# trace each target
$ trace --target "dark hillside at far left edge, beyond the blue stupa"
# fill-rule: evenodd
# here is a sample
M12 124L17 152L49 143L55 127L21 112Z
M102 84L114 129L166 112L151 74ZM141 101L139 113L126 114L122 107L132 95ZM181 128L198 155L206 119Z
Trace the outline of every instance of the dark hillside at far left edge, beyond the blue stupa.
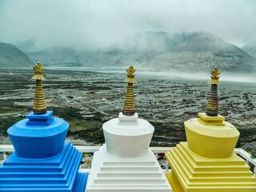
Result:
M28 55L10 43L0 42L0 68L28 68L32 65Z

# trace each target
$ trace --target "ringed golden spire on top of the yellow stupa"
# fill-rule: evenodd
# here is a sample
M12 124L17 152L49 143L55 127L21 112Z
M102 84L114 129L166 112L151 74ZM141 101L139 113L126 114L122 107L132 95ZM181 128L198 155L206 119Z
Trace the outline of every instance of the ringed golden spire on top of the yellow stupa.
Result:
M217 67L211 71L211 80L208 81L211 84L211 92L208 97L207 105L206 105L206 114L209 116L217 116L219 113L219 105L218 105L218 92L217 92L217 85L220 84L219 82L219 74L220 71Z

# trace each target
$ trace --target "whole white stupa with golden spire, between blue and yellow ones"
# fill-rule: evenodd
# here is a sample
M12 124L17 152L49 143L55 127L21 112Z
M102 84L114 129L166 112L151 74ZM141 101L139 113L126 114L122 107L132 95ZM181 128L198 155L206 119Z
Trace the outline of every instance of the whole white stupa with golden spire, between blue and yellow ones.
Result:
M105 144L94 153L86 192L170 192L165 174L149 149L154 126L135 113L135 69L127 70L124 111L103 124Z

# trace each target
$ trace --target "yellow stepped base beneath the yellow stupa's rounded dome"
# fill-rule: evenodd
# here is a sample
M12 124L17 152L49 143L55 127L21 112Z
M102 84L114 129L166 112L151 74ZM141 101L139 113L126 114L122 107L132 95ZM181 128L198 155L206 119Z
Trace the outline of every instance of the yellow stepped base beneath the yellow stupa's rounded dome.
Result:
M255 192L256 178L246 162L233 154L230 158L204 158L181 142L165 153L172 172L167 180L176 192Z

